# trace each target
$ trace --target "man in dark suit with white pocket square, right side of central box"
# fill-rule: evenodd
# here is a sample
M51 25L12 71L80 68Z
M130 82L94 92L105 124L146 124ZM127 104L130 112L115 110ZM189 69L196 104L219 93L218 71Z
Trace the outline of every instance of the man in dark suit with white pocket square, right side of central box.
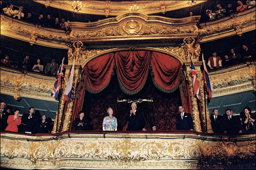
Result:
M184 113L183 106L179 106L180 114L177 116L177 130L191 130L193 131L193 120L189 113Z

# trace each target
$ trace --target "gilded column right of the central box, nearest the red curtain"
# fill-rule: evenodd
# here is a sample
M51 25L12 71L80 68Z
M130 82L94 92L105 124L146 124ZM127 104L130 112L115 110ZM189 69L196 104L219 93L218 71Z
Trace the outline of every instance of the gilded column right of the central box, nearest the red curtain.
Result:
M200 124L200 119L199 119L199 111L197 108L197 99L193 95L193 82L192 82L192 76L189 74L189 71L187 71L187 76L186 79L188 80L189 83L189 91L190 91L190 98L192 102L192 115L193 115L193 124L194 124L194 130L196 132L202 132L201 129L201 124Z

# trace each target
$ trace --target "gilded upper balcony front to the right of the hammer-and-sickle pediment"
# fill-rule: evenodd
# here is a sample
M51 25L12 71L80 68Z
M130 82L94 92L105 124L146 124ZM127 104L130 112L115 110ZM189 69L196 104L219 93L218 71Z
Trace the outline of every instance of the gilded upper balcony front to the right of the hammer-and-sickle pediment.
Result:
M242 36L243 32L255 30L255 8L199 25L201 43L236 34Z

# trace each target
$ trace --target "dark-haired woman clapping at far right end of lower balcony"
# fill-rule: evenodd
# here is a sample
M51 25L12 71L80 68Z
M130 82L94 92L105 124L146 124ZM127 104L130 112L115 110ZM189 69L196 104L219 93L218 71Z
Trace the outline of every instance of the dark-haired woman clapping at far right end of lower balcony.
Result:
M245 132L255 132L255 116L252 116L252 109L249 107L243 108L245 116L242 118L243 126L245 127Z

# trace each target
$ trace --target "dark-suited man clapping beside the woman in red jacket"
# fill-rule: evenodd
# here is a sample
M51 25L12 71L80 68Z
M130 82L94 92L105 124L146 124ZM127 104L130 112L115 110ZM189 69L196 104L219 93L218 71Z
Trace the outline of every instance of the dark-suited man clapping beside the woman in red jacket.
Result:
M36 115L34 114L34 107L30 107L28 109L29 113L24 113L21 116L21 124L19 126L19 132L31 132L35 133L36 129L35 126L37 125L37 118Z

